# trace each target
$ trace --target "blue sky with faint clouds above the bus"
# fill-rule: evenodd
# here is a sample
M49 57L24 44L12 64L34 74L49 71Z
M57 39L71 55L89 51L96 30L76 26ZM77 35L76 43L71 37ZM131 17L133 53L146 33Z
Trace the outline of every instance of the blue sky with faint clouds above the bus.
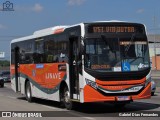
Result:
M2 10L6 1L14 11ZM160 0L0 0L0 52L9 60L11 40L36 30L108 20L143 23L148 34L160 34Z

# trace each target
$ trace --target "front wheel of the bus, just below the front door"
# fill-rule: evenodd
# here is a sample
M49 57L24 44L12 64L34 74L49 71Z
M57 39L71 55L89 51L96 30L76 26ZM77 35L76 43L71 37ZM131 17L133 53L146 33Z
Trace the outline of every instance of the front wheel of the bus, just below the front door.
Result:
M63 102L65 107L68 110L73 109L73 102L70 100L70 93L67 87L64 88L64 92L63 92Z

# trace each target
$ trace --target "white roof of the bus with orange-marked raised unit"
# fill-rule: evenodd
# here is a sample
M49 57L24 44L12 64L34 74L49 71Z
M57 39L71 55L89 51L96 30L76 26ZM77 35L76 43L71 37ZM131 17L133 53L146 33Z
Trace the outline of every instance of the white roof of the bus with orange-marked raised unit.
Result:
M75 24L75 25L66 25L66 26L55 26L55 27L50 27L50 28L35 31L33 33L33 35L30 35L30 36L25 36L25 37L13 39L11 41L11 43L24 41L24 40L30 40L30 39L34 39L34 38L40 38L40 37L43 37L46 35L60 33L60 32L63 32L66 28L71 28L74 26L84 25L84 24L89 24L89 23L130 23L130 22L110 20L110 21L93 21L93 22L86 22L86 23L83 22L83 23L79 23L79 24Z

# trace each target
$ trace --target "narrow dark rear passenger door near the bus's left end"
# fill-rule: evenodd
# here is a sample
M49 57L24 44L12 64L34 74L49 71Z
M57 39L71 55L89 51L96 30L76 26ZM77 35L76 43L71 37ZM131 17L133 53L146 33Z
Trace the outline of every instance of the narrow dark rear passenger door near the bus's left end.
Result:
M16 92L20 92L20 73L19 73L19 47L15 47L15 86Z

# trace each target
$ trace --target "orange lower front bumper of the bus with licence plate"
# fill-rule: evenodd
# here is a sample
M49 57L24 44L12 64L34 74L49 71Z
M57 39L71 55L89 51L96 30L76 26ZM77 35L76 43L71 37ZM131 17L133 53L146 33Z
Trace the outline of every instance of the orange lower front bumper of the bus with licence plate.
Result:
M84 87L84 102L118 102L118 101L133 101L138 99L149 99L151 97L151 83L149 83L137 95L118 95L106 96L98 92L96 89L86 85ZM122 99L119 99L122 98Z

